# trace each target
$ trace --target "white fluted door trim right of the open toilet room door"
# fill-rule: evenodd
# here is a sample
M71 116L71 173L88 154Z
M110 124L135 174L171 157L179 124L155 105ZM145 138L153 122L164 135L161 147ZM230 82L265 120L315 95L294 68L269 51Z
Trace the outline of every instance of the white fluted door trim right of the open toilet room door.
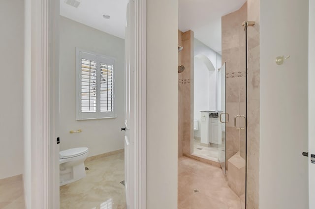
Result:
M135 208L146 209L147 0L135 0Z

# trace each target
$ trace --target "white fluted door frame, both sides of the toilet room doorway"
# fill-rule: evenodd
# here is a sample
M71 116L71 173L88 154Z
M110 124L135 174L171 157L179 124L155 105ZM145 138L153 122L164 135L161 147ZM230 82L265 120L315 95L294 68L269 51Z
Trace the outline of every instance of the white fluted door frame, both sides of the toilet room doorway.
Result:
M146 208L146 0L135 2L135 191L134 208ZM59 209L59 157L56 143L56 111L58 111L59 75L59 0L28 0L31 9L32 138L31 151L36 181L32 181L32 208ZM34 132L33 132L34 131ZM40 159L40 160L39 160ZM32 166L33 168L33 166ZM57 186L58 185L58 186ZM130 208L131 209L131 208Z

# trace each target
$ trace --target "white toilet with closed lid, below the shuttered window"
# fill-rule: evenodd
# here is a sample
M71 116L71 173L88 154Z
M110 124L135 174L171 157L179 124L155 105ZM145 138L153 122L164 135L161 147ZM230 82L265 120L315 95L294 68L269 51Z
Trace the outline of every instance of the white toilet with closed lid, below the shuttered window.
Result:
M88 157L88 154L89 148L87 147L59 152L60 186L85 177L84 160Z

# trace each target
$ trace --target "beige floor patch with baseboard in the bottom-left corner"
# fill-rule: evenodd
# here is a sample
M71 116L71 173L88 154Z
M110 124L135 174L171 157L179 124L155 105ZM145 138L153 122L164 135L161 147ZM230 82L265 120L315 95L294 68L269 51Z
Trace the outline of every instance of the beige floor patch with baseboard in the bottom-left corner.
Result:
M0 209L25 209L22 175L0 180Z

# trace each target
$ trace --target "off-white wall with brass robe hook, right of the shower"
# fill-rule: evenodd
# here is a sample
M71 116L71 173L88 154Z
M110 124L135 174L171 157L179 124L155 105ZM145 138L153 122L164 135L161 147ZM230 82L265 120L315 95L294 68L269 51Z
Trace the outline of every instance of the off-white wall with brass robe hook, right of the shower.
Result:
M261 209L308 209L308 18L308 0L260 0Z

